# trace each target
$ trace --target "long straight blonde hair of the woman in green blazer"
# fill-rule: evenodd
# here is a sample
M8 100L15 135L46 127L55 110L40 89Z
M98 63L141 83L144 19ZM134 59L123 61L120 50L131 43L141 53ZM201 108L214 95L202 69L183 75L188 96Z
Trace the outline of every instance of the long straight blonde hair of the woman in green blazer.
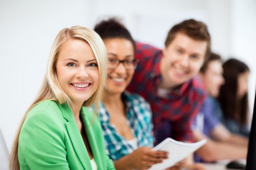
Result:
M49 55L49 60L47 64L46 74L44 76L42 85L39 90L38 97L36 98L35 102L31 104L28 108L27 112L25 113L24 117L21 120L20 127L18 129L17 135L15 137L12 151L10 154L10 170L20 170L19 160L18 160L18 144L19 144L19 136L20 130L23 125L24 120L28 112L39 102L45 100L53 100L58 102L59 104L68 103L71 105L71 99L65 94L65 92L61 89L57 73L56 73L56 63L58 60L59 52L61 50L62 44L67 42L69 39L79 39L87 42L96 57L98 62L98 70L99 70L99 87L96 92L84 102L84 106L90 106L95 104L95 110L98 111L98 107L103 95L103 89L105 87L105 78L106 78L106 69L107 69L107 53L106 48L101 40L100 36L93 30L81 27L81 26L74 26L70 29L64 28L62 29L55 41L52 45L52 49Z

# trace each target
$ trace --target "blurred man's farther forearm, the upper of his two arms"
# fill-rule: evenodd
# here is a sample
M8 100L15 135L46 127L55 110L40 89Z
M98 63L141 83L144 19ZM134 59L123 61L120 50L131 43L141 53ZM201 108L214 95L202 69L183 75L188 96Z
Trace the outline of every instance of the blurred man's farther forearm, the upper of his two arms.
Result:
M240 146L248 146L248 138L230 133L222 124L218 124L211 132L211 137L217 141Z

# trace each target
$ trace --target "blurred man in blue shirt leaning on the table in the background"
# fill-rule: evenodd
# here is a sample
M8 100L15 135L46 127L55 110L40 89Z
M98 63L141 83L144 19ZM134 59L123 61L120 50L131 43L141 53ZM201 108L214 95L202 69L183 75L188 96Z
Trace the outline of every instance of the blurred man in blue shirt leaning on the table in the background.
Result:
M247 155L247 138L230 133L216 116L216 113L221 113L216 98L221 85L225 83L222 74L221 57L211 53L198 74L208 95L193 125L195 140L207 139L206 144L196 151L195 161L197 162L212 162L220 159L236 160L246 158Z

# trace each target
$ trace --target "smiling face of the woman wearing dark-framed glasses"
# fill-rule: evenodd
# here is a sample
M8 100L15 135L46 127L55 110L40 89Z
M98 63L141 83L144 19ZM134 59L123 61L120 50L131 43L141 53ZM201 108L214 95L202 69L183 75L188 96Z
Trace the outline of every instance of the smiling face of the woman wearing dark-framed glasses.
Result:
M104 40L109 61L113 59L133 61L134 47L131 41L124 38L109 38ZM134 74L134 69L127 70L124 63L119 63L117 68L109 68L106 84L112 94L121 94L129 85Z

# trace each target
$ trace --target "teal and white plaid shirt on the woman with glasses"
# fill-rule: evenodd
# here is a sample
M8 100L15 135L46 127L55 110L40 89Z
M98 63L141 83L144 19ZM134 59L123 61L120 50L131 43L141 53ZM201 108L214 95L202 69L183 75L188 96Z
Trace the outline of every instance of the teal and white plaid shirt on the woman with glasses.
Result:
M152 112L149 104L138 94L129 92L124 92L122 99L126 104L127 123L137 139L138 148L153 147ZM115 126L109 123L109 113L103 103L100 105L99 119L105 138L106 152L113 160L118 160L135 150L123 136L118 134Z

